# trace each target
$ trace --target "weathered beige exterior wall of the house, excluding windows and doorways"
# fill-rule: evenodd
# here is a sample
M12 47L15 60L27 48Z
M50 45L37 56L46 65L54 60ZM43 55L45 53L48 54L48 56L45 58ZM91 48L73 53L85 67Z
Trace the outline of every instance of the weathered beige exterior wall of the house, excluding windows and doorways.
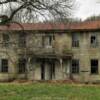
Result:
M0 43L2 43L2 34L0 33ZM80 61L80 72L79 74L72 74L73 79L81 82L92 82L92 81L100 81L100 45L97 48L90 47L90 36L91 34L97 34L98 43L100 43L100 33L99 32L75 32L79 34L80 46L72 47L72 34L71 33L55 33L55 41L53 41L53 47L58 54L62 53L63 49L65 51L72 51L72 59L79 59ZM6 58L8 59L9 69L8 73L0 72L0 80L13 80L13 79L22 79L28 78L29 80L41 80L41 66L40 62L33 61L31 64L31 69L28 73L18 74L18 58L19 48L18 48L18 34L20 32L10 32L10 42L8 48L0 46L0 59ZM34 51L34 53L50 53L53 48L43 48L42 47L42 36L44 33L36 33L33 31L29 31L26 38L26 45L29 49L29 52ZM23 52L23 50L22 50ZM43 57L42 57L43 58ZM36 59L34 57L34 59ZM66 58L60 62L60 58L58 57L55 60L55 78L52 80L66 80L70 78L70 68L71 68L71 59ZM98 59L99 61L99 73L92 75L91 74L91 59ZM27 67L29 65L27 64ZM27 75L26 75L27 74ZM50 65L48 63L45 64L45 80L50 80Z

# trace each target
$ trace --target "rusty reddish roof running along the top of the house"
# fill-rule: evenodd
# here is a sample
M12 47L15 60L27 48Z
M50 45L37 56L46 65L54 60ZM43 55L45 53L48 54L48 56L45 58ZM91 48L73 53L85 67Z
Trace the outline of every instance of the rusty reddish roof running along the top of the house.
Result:
M100 21L88 21L78 23L11 23L0 25L0 30L98 30Z

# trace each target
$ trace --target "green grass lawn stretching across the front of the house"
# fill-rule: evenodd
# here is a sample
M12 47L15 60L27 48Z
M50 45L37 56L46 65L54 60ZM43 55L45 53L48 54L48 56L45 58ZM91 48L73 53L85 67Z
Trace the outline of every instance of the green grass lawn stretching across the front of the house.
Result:
M0 100L100 100L100 86L0 83Z

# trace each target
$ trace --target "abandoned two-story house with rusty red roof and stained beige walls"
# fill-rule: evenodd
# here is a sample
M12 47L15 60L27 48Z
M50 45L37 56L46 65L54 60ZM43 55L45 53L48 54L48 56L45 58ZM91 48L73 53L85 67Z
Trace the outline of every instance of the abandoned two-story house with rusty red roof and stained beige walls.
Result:
M100 21L0 25L0 81L100 81Z

